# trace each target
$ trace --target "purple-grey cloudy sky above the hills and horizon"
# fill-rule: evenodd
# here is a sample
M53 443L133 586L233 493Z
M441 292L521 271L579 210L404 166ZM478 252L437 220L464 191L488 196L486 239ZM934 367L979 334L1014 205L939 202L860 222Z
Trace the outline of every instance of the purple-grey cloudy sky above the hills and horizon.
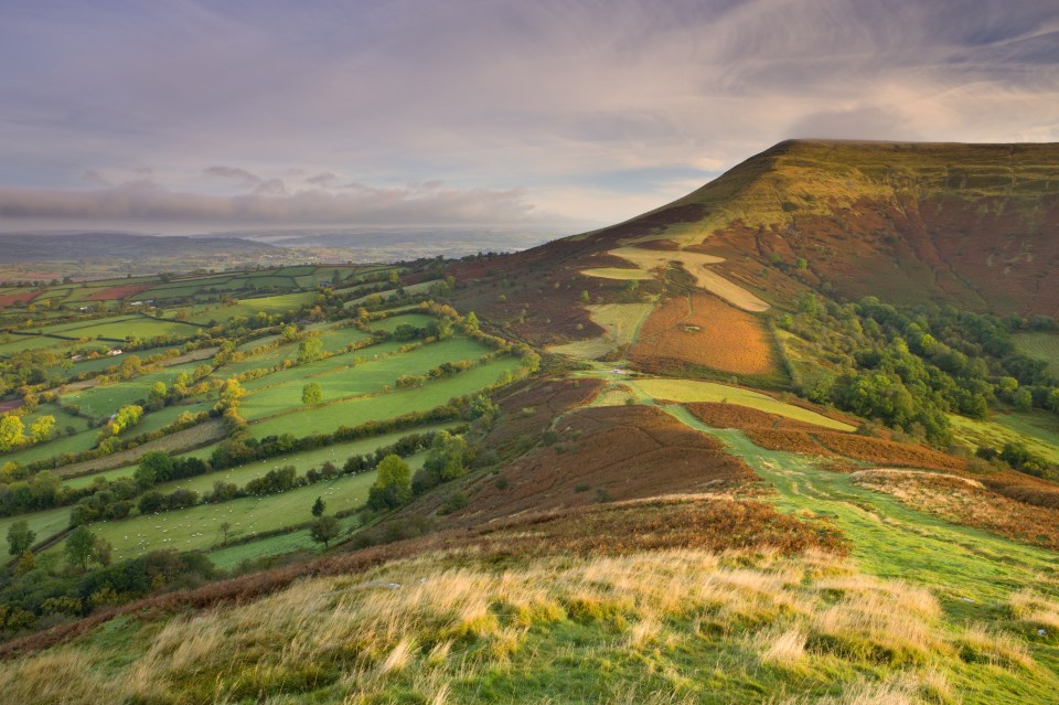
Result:
M1059 141L1059 0L0 0L0 231L573 233L796 137Z

